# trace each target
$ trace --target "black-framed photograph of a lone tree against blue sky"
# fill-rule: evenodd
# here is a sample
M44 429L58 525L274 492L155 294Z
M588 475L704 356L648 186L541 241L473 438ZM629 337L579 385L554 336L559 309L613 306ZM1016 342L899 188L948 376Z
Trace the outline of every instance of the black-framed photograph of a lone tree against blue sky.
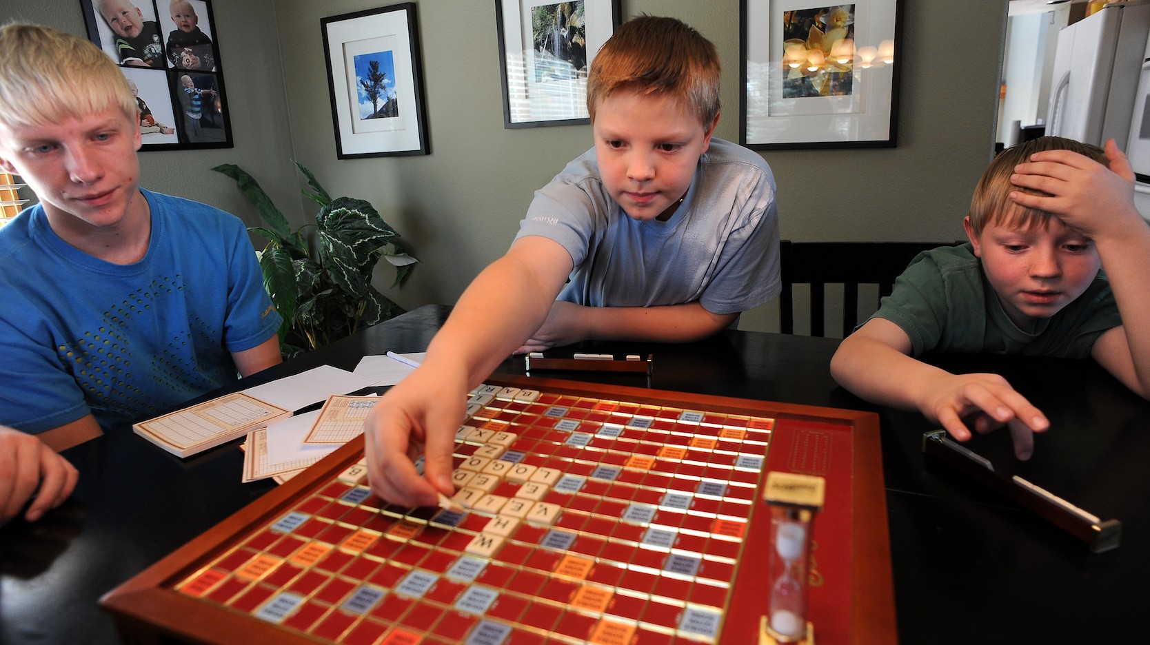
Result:
M339 159L429 154L415 3L320 21Z

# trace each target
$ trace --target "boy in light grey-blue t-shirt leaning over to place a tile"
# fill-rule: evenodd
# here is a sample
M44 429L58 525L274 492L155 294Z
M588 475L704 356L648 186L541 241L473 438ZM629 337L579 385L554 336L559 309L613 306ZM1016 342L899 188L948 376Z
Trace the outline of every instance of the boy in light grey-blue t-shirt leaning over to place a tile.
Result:
M586 98L595 148L536 193L507 253L376 406L365 429L373 491L405 506L452 494L466 394L509 353L697 340L777 295L774 177L757 153L713 138L719 68L714 45L674 18L628 21L599 49Z

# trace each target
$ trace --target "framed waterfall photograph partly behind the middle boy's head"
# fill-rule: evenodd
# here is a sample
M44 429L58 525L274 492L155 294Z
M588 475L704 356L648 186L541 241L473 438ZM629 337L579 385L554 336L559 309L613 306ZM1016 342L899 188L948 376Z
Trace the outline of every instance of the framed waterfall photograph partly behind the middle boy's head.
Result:
M586 72L619 0L496 0L504 128L590 123Z

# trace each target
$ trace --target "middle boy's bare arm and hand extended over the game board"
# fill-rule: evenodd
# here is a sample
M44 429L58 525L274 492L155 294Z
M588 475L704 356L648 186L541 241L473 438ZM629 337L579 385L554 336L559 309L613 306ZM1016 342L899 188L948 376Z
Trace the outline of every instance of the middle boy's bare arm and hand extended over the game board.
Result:
M423 364L375 406L365 428L371 490L404 506L451 496L451 453L467 393L538 329L572 270L559 244L524 237L459 298ZM424 456L420 477L413 461Z

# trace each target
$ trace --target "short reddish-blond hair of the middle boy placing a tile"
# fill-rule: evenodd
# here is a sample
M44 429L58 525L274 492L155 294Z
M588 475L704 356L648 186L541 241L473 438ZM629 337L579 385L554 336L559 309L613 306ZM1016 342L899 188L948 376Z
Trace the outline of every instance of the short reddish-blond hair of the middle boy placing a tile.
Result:
M719 54L698 31L675 20L639 16L599 49L586 78L586 109L620 90L669 97L710 128L719 116Z

